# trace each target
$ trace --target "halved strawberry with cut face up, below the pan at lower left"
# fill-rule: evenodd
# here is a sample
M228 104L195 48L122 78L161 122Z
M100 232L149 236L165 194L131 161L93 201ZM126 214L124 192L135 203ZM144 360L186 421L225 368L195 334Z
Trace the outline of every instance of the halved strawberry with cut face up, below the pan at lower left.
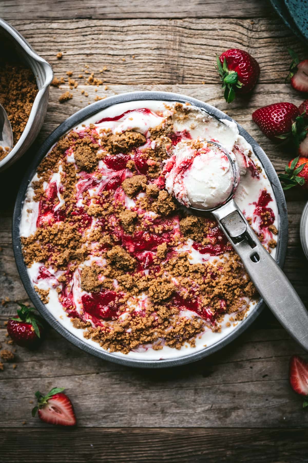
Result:
M76 416L71 400L62 394L64 388L53 388L47 395L39 391L35 393L37 406L32 409L32 416L36 412L39 418L51 425L74 426Z

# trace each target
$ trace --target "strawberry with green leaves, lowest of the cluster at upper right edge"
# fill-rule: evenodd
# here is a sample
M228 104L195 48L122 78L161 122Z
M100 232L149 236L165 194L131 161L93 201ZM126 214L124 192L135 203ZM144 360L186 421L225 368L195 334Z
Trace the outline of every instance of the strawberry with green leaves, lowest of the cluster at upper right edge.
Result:
M297 156L285 166L285 173L278 175L284 190L299 186L308 188L308 157Z

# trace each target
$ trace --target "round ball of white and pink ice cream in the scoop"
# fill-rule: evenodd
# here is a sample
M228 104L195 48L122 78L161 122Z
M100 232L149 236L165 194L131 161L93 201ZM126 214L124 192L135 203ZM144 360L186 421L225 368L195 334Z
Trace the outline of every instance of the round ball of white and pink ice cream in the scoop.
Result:
M236 156L230 151L236 163ZM223 204L239 178L234 178L226 152L206 140L178 143L164 171L168 192L184 206L212 209Z

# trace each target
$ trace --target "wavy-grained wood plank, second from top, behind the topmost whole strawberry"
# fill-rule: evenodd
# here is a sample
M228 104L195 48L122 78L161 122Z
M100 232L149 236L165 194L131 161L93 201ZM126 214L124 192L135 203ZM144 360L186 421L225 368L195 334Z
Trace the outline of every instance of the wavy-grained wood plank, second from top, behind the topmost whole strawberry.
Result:
M260 64L260 82L283 82L290 63L287 47L304 56L303 45L280 19L11 22L57 73L75 69L78 75L88 63L98 75L106 66L103 77L113 84L217 83L215 55L228 48L252 53ZM60 61L58 51L64 52Z

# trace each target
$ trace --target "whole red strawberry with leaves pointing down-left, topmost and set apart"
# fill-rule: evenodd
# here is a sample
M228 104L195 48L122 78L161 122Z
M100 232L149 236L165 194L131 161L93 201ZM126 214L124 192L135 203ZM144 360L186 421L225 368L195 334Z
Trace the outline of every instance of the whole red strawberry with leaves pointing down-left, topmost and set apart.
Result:
M216 61L227 103L235 99L236 93L246 94L254 88L260 67L247 51L232 48L217 55Z

